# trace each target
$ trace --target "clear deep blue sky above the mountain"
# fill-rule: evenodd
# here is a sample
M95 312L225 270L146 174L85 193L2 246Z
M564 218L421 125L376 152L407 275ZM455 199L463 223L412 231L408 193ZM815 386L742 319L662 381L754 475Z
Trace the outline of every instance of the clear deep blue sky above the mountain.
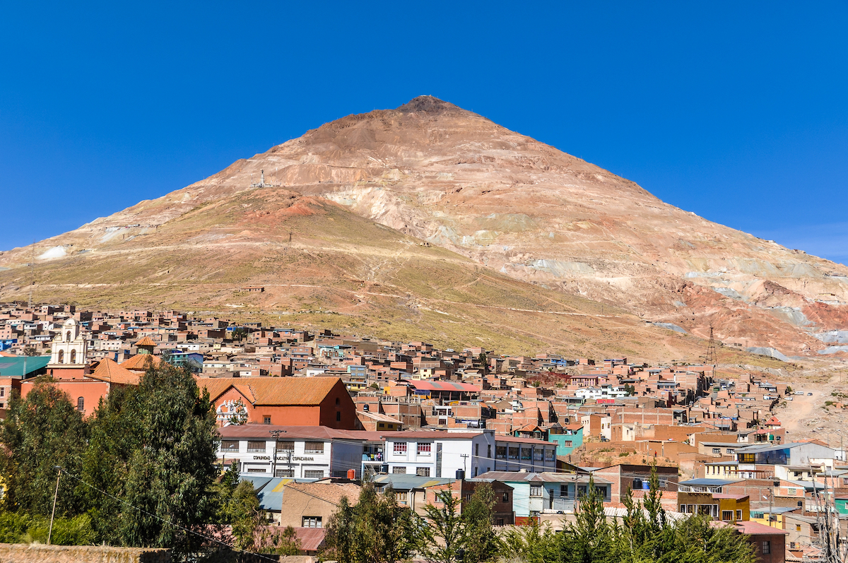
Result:
M432 94L848 263L848 3L3 3L0 249Z

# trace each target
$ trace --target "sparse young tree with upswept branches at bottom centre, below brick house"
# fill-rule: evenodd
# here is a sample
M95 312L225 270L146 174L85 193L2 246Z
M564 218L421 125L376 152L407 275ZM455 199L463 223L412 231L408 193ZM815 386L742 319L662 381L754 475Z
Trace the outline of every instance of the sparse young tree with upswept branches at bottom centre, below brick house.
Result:
M449 487L436 493L436 503L424 506L419 549L431 563L455 563L463 559L467 543L466 521L460 515L460 499Z

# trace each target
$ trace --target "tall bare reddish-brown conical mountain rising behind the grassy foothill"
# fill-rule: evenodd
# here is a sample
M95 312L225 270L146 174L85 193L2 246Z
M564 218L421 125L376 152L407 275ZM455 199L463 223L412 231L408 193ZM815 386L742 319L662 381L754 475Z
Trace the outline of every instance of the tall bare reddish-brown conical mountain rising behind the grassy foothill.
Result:
M296 203L271 209L276 204L267 202L279 198ZM271 207L259 210L263 205ZM221 206L229 207L225 212ZM359 229L380 236L391 232L394 242L403 240L404 248L420 255L419 265L432 264L431 254L438 254L450 256L463 271L484 272L493 287L503 290L500 298L512 291L506 289L511 280L531 282L515 287L544 292L545 299L583 298L568 302L577 309L597 307L591 299L699 337L707 337L714 326L729 346L776 348L787 355L817 355L848 340L848 333L839 332L848 329L845 266L701 219L632 181L431 97L322 125L203 181L39 243L36 252L44 258L36 264L40 276L50 277L80 260L63 279L81 283L90 279L81 266L95 258L108 255L114 268L130 266L125 277L131 278L137 268L131 257L166 254L192 270L180 280L254 281L258 274L250 268L273 260L274 245L286 246L287 229L293 232L293 245L301 233L316 241L336 236L332 225L293 221L290 215L297 215L292 209L298 206L353 212L344 213L349 238L336 237L332 250L348 261L374 242L371 235L357 234ZM255 215L246 218L242 210L247 209ZM393 231L379 231L375 223ZM264 231L258 236L260 224L273 226L274 242L263 242ZM238 241L243 242L239 248L249 246L252 262L222 250ZM231 247L222 246L227 244ZM179 258L194 255L186 245L203 252L215 248L217 258L188 264ZM439 254L444 250L436 247L451 253ZM25 293L25 273L18 268L31 254L30 248L0 254L0 266L12 269L0 272L0 284L5 284L0 298ZM395 262L381 267L397 268ZM264 280L291 276L293 270L284 264L266 272ZM293 264L315 267L314 260ZM367 269L354 270L342 266L338 271L367 281ZM156 275L176 282L173 274L157 270ZM149 276L140 272L132 279L147 283ZM36 281L45 285L47 279ZM325 276L319 285L326 283ZM431 286L438 289L431 298L448 288L437 286ZM165 291L159 287L165 286L148 286L133 298L147 295L156 301ZM418 291L403 289L410 298Z

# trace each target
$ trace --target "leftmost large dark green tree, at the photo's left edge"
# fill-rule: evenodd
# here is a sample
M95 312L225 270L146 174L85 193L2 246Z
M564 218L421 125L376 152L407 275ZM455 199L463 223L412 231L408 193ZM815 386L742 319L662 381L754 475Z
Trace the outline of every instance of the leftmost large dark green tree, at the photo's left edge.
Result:
M70 397L51 384L37 382L26 399L17 391L0 426L0 476L6 483L6 510L31 515L49 515L59 471L76 473L86 449L86 423ZM76 483L64 477L59 482L56 514L76 514L82 499Z

